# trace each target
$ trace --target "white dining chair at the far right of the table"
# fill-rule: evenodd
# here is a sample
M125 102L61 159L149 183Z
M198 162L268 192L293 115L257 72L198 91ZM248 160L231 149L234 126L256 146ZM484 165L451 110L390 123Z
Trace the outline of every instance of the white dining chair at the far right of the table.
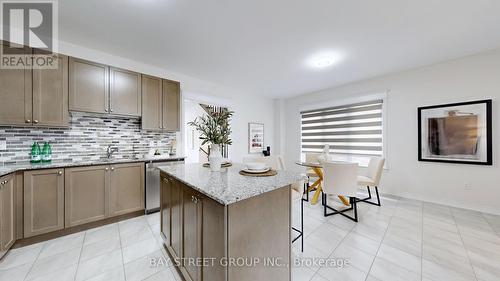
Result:
M384 170L385 159L381 157L372 157L368 163L368 169L365 175L358 176L358 186L366 186L368 190L368 197L363 199L358 199L358 202L365 202L375 206L381 206L380 196L378 194L378 186L380 184L380 178L382 177L382 172ZM372 199L372 193L370 187L375 187L375 193L377 195L377 202L370 201Z

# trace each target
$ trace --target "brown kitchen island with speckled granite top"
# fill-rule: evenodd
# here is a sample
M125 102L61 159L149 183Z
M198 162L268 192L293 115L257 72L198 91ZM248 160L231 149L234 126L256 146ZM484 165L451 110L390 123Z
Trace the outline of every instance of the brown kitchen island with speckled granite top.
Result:
M159 168L164 246L185 280L291 280L290 185L303 176L247 177L242 168Z

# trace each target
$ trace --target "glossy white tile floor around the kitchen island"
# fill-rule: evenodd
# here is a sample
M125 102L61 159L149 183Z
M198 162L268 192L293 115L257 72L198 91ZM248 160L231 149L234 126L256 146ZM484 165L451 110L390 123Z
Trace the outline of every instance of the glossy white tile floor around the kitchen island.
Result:
M500 280L500 217L406 199L382 203L360 204L357 224L324 218L319 204L306 203L305 251L294 244L294 258L349 265L294 267L293 280ZM14 249L0 261L0 281L180 280L173 268L149 264L166 257L159 232L157 213Z

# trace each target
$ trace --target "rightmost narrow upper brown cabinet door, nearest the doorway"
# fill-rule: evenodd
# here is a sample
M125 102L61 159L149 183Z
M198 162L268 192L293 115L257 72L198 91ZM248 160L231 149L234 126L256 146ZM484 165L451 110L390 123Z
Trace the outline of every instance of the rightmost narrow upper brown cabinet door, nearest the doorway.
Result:
M180 131L181 92L176 81L163 80L163 129Z

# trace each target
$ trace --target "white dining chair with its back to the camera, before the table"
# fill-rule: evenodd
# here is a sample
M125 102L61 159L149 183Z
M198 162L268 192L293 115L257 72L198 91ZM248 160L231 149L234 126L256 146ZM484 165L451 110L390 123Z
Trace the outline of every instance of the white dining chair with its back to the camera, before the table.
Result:
M358 164L328 162L323 164L323 215L325 217L340 214L348 219L358 222L358 208L356 205L358 183ZM346 209L337 210L328 205L328 197L347 196L351 206ZM333 212L328 212L328 210ZM353 211L354 216L346 215L346 212Z

